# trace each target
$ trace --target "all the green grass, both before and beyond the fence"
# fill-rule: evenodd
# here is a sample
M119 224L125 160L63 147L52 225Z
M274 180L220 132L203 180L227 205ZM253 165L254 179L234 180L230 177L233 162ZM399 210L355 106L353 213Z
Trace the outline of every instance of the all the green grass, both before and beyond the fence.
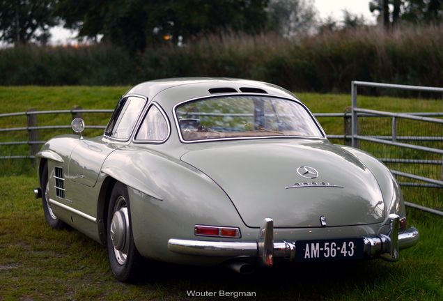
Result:
M0 114L31 107L69 109L74 105L112 109L126 90L127 87L0 87ZM349 95L298 95L314 112L340 112L350 103ZM360 100L371 109L443 111L441 100ZM108 117L89 115L85 120L86 124L98 125L106 123ZM42 125L70 121L69 114L38 118ZM23 119L0 118L0 128L22 126L26 123ZM329 134L343 132L340 118L322 118L320 123ZM52 135L54 132L47 132L42 137ZM13 139L26 140L26 132L3 135L0 141ZM27 146L15 151L26 153ZM137 284L122 284L111 275L104 246L75 230L54 231L45 224L41 200L32 194L38 186L32 164L20 160L2 164L0 300L192 300L187 297L189 290L256 292L256 298L248 300L443 300L442 219L412 209L408 210L408 223L417 226L421 239L416 247L401 252L396 263L374 260L281 266L249 276L223 267L146 263L145 277ZM441 190L437 197L441 198Z

